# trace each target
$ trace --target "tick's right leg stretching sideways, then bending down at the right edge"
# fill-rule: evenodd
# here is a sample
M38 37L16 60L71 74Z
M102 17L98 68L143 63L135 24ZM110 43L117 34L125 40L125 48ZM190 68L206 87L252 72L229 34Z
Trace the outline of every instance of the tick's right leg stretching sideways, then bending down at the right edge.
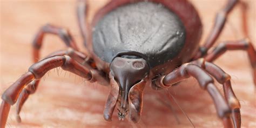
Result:
M205 57L207 62L213 62L219 56L223 55L227 50L245 50L248 53L252 68L253 80L256 85L256 50L253 48L249 39L242 39L240 41L230 41L219 44L212 52Z

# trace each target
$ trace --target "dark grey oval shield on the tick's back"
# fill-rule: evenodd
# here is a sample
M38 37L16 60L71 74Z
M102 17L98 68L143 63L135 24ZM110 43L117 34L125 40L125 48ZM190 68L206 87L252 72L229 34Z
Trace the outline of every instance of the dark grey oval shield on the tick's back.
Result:
M185 28L165 6L137 2L106 14L93 28L93 50L105 62L119 52L145 55L150 68L178 55L185 43Z

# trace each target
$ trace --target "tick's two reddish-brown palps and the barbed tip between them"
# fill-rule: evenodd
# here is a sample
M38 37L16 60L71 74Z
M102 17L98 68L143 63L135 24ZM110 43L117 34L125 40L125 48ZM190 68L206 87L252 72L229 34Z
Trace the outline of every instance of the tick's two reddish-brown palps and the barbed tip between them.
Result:
M112 75L110 75L112 76ZM112 114L114 107L118 102L119 95L119 86L114 78L110 80L110 93L107 97L105 109L104 109L104 119L108 122L112 121ZM143 90L146 85L146 81L142 80L136 85L132 86L129 91L129 108L120 107L118 110L118 119L124 120L125 116L129 112L130 120L133 123L138 123L142 114L142 105L143 105Z

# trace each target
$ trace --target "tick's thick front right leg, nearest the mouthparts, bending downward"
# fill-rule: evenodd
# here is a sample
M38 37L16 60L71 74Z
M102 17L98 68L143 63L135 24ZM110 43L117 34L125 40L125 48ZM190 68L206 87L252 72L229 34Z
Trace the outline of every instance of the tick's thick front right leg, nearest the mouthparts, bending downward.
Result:
M210 93L215 107L218 112L218 116L223 119L224 127L233 127L231 116L231 109L226 103L221 93L213 84L213 79L210 75L208 75L203 69L194 64L183 64L177 70L173 72L161 76L158 79L154 80L152 86L158 86L163 89L169 88L171 85L180 82L188 77L194 77L198 80L200 87L204 90L207 90ZM156 87L154 87L156 88Z

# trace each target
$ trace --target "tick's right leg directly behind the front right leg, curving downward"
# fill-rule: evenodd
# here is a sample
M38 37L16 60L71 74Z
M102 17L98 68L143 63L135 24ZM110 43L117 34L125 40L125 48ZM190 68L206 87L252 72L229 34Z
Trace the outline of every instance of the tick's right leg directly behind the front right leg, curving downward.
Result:
M217 65L210 62L205 62L203 58L191 63L205 69L205 71L213 76L220 84L223 84L226 102L232 109L232 120L234 127L241 127L240 103L232 89L230 75L220 69Z

